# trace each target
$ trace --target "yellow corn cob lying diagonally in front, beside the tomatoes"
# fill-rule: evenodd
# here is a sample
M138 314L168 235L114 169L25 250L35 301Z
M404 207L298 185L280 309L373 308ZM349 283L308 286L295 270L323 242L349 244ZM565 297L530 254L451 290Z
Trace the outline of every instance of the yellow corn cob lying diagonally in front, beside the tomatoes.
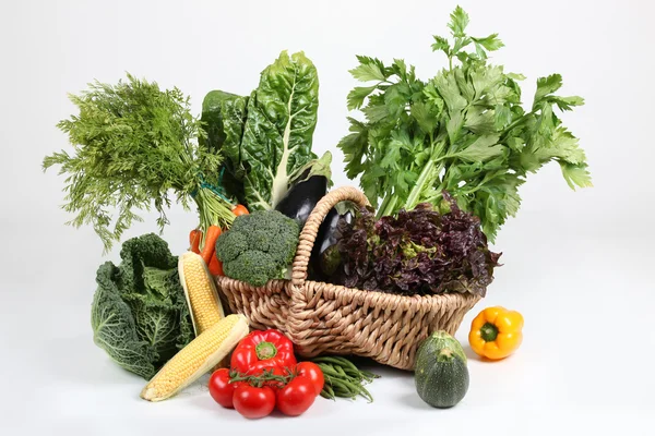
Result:
M172 397L223 360L248 335L243 315L228 315L180 350L141 391L141 398Z

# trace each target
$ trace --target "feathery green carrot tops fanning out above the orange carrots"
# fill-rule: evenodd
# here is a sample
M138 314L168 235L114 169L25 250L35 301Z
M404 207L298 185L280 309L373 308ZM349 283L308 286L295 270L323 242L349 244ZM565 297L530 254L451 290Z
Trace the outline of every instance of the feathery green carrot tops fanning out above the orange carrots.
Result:
M142 220L136 210L154 206L163 229L171 196L184 208L196 203L203 230L234 220L230 204L212 187L222 158L198 145L204 132L189 97L130 74L117 85L88 86L70 95L80 113L57 124L73 153L61 150L43 161L44 170L59 165L59 173L67 174L63 209L76 214L69 225L93 226L108 251Z

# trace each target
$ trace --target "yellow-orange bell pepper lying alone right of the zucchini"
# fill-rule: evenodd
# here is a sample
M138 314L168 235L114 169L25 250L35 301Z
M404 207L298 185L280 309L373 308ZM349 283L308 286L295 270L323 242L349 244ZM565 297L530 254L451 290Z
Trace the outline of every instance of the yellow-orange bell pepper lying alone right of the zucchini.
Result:
M487 307L471 323L468 342L479 355L499 360L512 354L523 341L523 316L504 307Z

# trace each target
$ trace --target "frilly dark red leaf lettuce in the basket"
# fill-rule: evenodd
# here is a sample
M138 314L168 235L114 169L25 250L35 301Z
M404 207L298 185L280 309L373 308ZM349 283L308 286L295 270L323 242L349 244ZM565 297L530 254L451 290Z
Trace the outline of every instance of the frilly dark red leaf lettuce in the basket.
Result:
M397 217L376 220L360 208L341 222L337 247L343 268L335 281L349 288L400 294L469 292L484 296L500 253L489 251L480 220L444 193L450 211L428 203Z

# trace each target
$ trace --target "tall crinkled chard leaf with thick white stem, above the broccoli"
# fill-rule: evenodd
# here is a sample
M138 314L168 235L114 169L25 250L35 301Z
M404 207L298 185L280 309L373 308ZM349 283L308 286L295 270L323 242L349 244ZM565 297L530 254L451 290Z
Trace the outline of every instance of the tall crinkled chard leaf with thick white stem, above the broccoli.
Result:
M303 53L283 52L261 74L248 104L241 164L249 207L272 209L311 152L319 108L317 69Z

